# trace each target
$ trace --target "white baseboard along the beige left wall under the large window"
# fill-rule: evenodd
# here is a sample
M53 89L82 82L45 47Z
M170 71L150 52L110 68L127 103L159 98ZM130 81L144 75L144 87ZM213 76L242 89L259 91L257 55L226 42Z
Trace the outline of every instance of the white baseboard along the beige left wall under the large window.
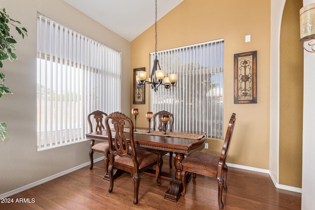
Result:
M103 159L104 159L104 157L99 157L99 158L94 159L94 162L98 162L98 161L103 160ZM34 187L34 186L43 184L43 183L45 183L45 182L47 182L47 181L50 181L50 180L54 180L54 179L56 179L56 178L58 178L58 177L61 177L61 176L66 175L66 174L69 174L69 173L71 173L71 172L74 172L74 171L76 171L76 170L78 170L78 169L81 169L81 168L83 168L83 167L86 167L86 166L88 166L88 165L90 165L90 161L89 161L89 162L86 162L86 163L84 163L84 164L81 164L81 165L79 165L79 166L73 167L73 168L71 168L71 169L65 170L65 171L63 171L63 172L60 172L60 173L58 173L58 174L55 174L55 175L53 175L53 176L44 178L44 179L42 179L42 180L35 181L35 182L30 183L30 184L27 184L27 185L25 185L25 186L23 186L23 187L19 187L19 188L17 188L17 189L11 190L11 191L9 191L9 192L3 193L3 194L0 195L0 199L2 199L2 198L7 198L7 197L9 197L9 196L11 196L11 195L15 195L15 194L20 193L20 192L23 192L23 191L25 191L25 190L31 189L31 188Z

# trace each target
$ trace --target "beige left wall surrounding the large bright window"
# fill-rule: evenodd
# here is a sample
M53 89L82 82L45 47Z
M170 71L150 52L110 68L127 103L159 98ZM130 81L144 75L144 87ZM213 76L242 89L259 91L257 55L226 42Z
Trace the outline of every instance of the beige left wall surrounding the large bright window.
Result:
M0 195L87 163L90 142L56 149L36 149L36 16L37 11L122 52L123 86L129 87L130 42L104 28L63 0L0 0L11 18L22 22L29 37L22 40L14 29L18 60L3 63L5 84L13 95L0 99L0 121L8 125L8 138L0 142ZM126 72L126 73L124 73ZM130 109L129 92L123 91L122 111ZM95 155L97 157L97 155ZM98 156L100 157L100 156Z

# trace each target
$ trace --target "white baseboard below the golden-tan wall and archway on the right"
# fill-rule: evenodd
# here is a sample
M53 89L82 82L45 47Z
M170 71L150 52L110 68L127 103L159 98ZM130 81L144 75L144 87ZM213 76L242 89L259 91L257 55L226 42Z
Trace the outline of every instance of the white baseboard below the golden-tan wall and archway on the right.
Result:
M239 168L239 169L244 169L244 170L249 170L249 171L255 171L255 172L261 172L261 173L269 174L269 176L270 176L272 182L274 183L275 187L277 187L279 189L292 191L292 192L302 193L302 188L292 187L292 186L288 186L288 185L277 183L276 179L270 174L269 170L260 169L260 168L254 168L254 167L249 167L249 166L243 166L243 165L237 165L237 164L232 164L232 163L226 163L226 165L228 167L232 167L232 168Z

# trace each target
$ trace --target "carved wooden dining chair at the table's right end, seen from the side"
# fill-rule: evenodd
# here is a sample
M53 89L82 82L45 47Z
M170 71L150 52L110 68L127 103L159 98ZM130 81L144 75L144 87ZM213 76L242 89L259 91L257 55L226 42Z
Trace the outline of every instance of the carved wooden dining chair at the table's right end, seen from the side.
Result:
M221 155L210 154L202 151L192 152L189 156L184 158L182 161L183 172L182 172L182 183L183 190L181 195L184 196L186 193L186 173L193 173L192 179L195 180L196 174L216 177L218 180L218 201L219 208L223 209L222 193L223 188L227 190L226 176L227 176L227 165L225 164L228 146L232 137L236 114L233 113L227 127Z

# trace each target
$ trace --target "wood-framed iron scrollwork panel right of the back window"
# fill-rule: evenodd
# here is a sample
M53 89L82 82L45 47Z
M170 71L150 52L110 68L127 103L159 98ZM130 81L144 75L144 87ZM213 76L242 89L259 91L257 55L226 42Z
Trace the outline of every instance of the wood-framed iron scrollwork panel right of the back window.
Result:
M234 54L234 103L257 103L257 51Z

